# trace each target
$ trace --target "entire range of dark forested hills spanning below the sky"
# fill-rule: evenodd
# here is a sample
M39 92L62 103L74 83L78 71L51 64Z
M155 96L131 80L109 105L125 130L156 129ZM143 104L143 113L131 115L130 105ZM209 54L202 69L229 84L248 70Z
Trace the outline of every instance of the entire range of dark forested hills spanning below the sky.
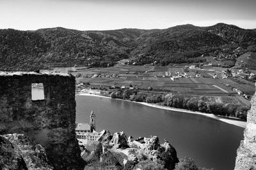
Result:
M235 62L239 55L255 51L255 29L227 24L179 25L154 30L77 31L62 27L36 31L0 30L0 70L6 71L33 71L75 64L106 67L128 58L131 63L157 61L164 66L196 62L202 55L222 56Z

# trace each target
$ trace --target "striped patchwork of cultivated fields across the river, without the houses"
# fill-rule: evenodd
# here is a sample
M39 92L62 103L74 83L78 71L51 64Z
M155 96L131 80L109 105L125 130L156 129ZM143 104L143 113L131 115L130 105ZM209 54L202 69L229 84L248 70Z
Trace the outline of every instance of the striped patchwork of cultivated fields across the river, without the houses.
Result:
M253 94L255 85L246 80L234 80L233 78L212 78L212 74L223 71L220 67L211 69L189 69L189 77L180 77L172 80L170 76L183 73L184 67L178 66L115 66L106 68L77 69L73 72L79 75L77 82L88 83L92 86L106 87L135 87L150 93L173 93L184 94L186 96L210 96L216 102L250 104L248 99L238 96L232 90L237 88L245 94ZM220 69L219 69L220 68ZM67 70L67 69L66 69ZM195 77L200 73L202 77ZM96 77L92 75L97 74Z

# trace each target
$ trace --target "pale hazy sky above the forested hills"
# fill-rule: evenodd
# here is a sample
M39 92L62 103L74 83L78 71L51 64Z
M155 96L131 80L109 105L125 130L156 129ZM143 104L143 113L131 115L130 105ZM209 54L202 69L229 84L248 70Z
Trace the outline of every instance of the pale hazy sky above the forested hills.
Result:
M256 0L0 0L0 29L165 29L218 22L256 28Z

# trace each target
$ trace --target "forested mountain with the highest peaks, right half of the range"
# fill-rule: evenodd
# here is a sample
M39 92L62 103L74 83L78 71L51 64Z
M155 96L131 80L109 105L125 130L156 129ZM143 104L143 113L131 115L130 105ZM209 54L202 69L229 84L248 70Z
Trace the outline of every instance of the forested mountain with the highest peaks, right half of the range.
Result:
M256 31L227 24L211 27L188 24L148 32L137 41L139 45L132 51L134 62L145 64L157 61L165 66L196 62L196 57L202 55L236 60L238 55L256 50ZM241 48L240 52L237 52L237 48Z

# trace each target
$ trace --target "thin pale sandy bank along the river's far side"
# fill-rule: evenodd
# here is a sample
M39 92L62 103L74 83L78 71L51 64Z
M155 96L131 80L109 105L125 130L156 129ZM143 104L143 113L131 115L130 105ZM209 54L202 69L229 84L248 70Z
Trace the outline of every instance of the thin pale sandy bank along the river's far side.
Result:
M100 96L99 94L90 94L90 93L86 93L86 92L82 92L80 94L77 94L76 96L106 97L106 96ZM111 97L106 97L106 98L111 99ZM122 100L122 99L120 99L120 100ZM129 100L125 100L125 101L129 101ZM144 102L135 102L135 101L130 101L130 102L140 103L145 106L150 106L150 107L164 109L164 110L180 111L183 113L192 113L192 114L196 114L196 115L203 115L205 117L214 118L215 120L220 120L221 122L225 122L227 124L232 124L232 125L236 125L236 126L243 127L243 128L246 127L245 121L239 120L238 118L234 118L234 117L221 117L218 115L213 115L211 113L201 113L199 111L191 111L191 110L184 110L184 109L179 109L179 108L172 108L172 107L168 107L168 106L161 106L161 105L154 104L154 103L144 103Z

